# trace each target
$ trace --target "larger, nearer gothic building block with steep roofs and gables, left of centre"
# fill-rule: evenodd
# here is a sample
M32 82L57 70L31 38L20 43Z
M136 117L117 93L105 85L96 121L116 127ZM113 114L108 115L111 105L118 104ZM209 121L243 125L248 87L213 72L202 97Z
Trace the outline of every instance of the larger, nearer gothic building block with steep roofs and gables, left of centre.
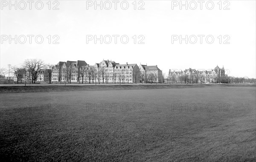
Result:
M38 79L44 80L41 76ZM162 83L163 76L162 71L157 66L119 64L109 60L103 60L94 65L89 65L85 61L60 61L52 67L52 81L66 81L68 83Z

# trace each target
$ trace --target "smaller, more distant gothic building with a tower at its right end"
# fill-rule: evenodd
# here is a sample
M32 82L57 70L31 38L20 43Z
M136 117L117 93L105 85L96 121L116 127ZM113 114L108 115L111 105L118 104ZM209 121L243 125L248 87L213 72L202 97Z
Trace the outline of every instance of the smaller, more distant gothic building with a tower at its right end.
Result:
M224 67L218 65L210 70L185 69L175 71L169 69L169 81L172 83L221 83L226 77Z

